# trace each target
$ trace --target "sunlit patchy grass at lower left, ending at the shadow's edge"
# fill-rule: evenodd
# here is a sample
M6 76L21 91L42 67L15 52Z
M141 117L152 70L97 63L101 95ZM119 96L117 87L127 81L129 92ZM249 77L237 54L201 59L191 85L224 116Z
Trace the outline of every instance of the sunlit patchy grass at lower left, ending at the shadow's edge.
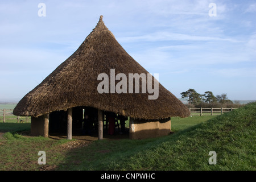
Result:
M38 164L38 152L46 151L48 166L54 166L56 161L64 160L61 150L56 148L67 140L51 140L44 137L27 138L20 134L7 132L0 140L0 170L39 170L42 167Z

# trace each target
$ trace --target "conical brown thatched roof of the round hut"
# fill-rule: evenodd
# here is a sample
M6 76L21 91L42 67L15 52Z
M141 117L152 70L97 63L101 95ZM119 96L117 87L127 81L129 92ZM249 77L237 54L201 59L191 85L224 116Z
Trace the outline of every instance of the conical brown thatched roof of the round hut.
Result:
M110 69L115 69L115 75L125 73L127 78L129 73L148 73L117 42L101 16L77 51L27 93L13 113L39 117L56 110L91 106L141 119L189 116L188 108L161 84L156 100L148 100L152 94L141 92L98 93L101 80L97 77L100 73L110 75Z

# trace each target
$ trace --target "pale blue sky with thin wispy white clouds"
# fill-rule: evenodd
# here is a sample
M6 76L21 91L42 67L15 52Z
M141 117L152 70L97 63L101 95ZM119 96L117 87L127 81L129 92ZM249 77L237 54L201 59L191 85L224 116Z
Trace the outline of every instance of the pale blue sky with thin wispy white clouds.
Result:
M46 16L38 16L45 3ZM216 15L212 6L216 5ZM0 1L0 101L19 101L80 46L100 15L176 97L256 100L256 1Z

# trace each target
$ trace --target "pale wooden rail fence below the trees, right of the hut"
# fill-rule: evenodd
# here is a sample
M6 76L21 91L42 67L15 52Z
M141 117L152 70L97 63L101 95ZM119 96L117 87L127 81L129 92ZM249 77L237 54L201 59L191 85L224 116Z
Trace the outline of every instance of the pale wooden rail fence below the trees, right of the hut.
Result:
M228 113L230 111L232 111L233 109L237 109L237 108L234 108L234 107L230 107L230 108L224 108L224 107L221 107L221 108L191 108L189 107L189 111L191 113L191 115L199 115L202 116L203 113L207 113L207 114L204 114L204 115L220 115L220 114L223 114L223 113Z

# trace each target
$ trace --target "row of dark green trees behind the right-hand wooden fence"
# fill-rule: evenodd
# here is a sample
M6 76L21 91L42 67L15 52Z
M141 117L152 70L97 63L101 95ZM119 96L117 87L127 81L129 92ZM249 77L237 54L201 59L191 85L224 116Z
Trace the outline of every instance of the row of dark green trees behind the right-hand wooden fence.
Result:
M189 107L240 107L242 106L238 101L235 103L228 99L227 93L214 96L210 91L204 94L197 93L195 89L188 89L181 92L181 98L187 98Z

